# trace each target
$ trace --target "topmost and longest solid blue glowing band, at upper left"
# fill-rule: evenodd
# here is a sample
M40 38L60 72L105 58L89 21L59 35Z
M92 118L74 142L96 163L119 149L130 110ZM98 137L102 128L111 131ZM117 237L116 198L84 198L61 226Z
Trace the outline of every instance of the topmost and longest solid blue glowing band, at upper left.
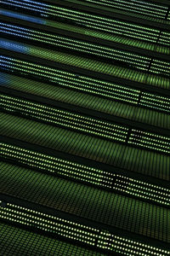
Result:
M13 18L20 19L20 20L26 20L26 21L30 21L30 22L34 22L34 23L42 24L42 25L46 24L46 20L42 20L41 18L33 18L30 15L20 15L18 13L14 13L12 11L0 10L0 15L5 15L8 17L13 17Z

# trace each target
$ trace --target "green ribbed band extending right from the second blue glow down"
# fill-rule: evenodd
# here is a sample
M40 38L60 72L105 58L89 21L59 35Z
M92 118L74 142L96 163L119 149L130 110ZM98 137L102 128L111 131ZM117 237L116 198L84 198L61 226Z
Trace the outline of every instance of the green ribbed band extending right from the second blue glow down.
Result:
M25 45L29 49L29 55L40 57L45 60L56 61L65 65L71 65L72 67L80 67L82 69L87 69L92 72L104 73L117 78L132 80L133 82L139 83L145 83L145 81L148 81L153 77L153 75L141 73L139 71L128 69L126 67L119 67L116 65L108 64L101 61L94 61L77 55L70 55L50 49L42 49L36 46L32 47L31 45L27 44ZM154 79L152 79L150 84L155 86L158 85L156 76L154 76ZM159 86L161 84L167 84L167 86L170 86L170 84L167 83L167 80L164 78L161 78L161 80L159 81Z

